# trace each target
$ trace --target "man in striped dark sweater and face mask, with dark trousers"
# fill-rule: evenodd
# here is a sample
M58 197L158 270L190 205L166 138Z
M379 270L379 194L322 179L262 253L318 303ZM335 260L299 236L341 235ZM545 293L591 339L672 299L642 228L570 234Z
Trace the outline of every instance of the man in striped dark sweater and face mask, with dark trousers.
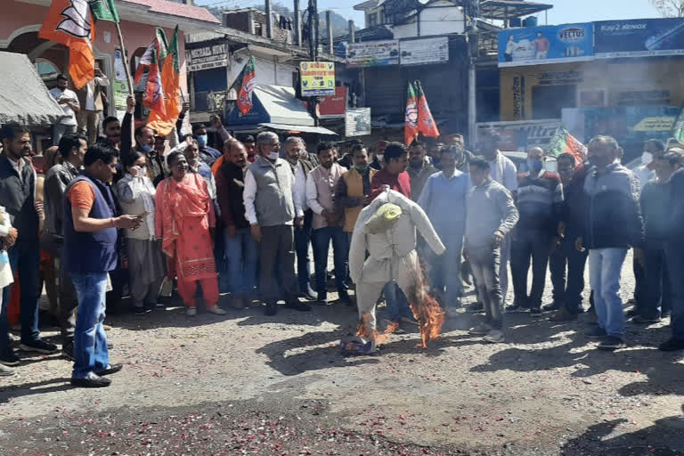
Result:
M542 314L542 295L551 248L556 241L563 208L563 184L555 173L543 168L544 151L527 151L527 173L518 176L517 211L520 218L512 232L510 271L515 300L509 312L529 309ZM527 294L527 271L532 258L532 290Z

